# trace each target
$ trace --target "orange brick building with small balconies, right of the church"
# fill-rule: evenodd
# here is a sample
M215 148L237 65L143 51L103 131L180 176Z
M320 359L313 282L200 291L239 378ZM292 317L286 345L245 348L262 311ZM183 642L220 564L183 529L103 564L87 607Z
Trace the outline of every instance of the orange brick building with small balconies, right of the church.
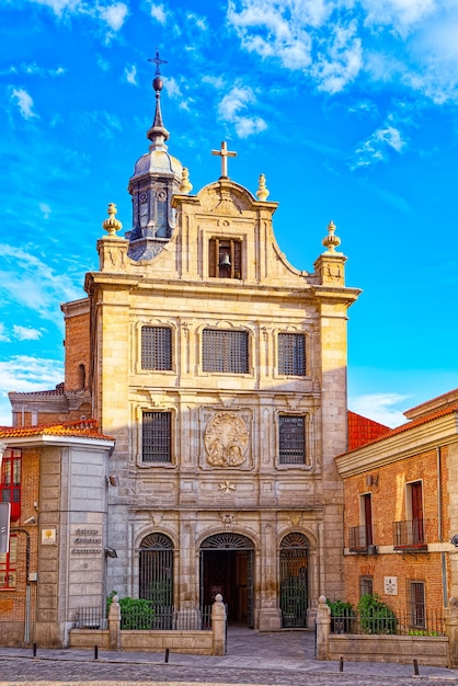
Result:
M336 458L344 483L345 599L375 592L412 629L458 594L458 391ZM458 540L458 539L457 539Z

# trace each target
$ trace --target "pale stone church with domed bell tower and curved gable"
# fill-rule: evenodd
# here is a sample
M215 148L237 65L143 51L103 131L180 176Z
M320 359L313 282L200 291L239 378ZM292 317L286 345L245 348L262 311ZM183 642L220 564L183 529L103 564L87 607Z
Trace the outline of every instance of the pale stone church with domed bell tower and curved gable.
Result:
M226 144L220 176L193 194L165 145L159 76L153 88L131 229L119 235L110 205L88 297L62 306L65 385L12 393L15 423L33 405L39 422L83 412L115 439L107 593L197 613L221 593L229 621L311 627L320 594L344 593L334 457L347 449L359 290L345 286L332 222L313 272L288 263L264 176L255 195L232 181Z

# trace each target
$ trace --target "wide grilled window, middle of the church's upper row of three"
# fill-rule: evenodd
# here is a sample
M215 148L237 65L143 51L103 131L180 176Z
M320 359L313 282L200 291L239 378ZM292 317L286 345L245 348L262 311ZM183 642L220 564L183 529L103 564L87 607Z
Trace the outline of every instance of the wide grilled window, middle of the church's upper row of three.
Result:
M202 368L204 371L248 374L248 332L204 329Z

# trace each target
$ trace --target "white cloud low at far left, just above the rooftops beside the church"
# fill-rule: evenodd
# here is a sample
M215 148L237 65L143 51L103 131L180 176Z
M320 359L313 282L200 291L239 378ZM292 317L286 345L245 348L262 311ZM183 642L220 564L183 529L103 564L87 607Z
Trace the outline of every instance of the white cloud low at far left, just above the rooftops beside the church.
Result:
M9 391L33 392L53 389L64 378L62 363L58 359L45 359L15 355L0 362L0 425L11 425L11 404Z

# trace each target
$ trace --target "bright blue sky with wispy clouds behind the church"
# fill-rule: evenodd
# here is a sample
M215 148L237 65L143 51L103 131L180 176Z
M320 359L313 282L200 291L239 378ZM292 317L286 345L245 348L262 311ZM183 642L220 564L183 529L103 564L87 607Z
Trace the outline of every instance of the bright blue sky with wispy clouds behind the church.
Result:
M350 408L389 425L458 386L456 0L0 0L0 424L62 379L60 302L84 296L148 150L159 49L169 150L194 192L265 173L277 240L348 256Z

